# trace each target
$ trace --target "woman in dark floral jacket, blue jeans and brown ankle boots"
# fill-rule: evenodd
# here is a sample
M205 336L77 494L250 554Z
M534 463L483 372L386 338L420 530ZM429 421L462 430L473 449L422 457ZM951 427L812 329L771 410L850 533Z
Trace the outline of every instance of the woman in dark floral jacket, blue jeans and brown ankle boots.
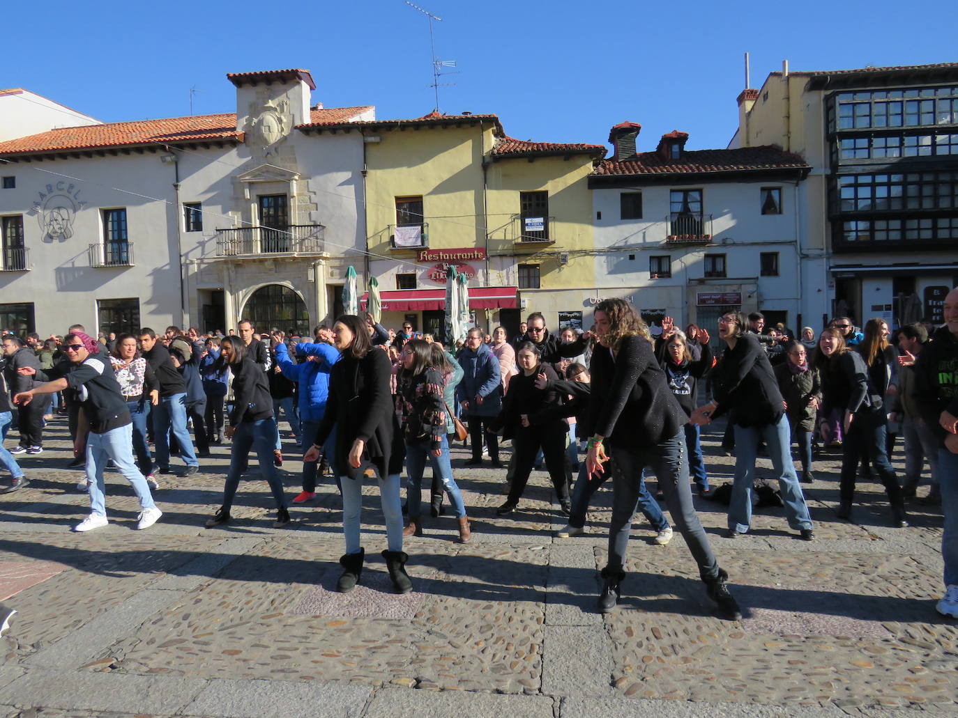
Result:
M420 494L422 472L426 459L443 482L449 502L459 521L459 540L471 538L466 506L452 477L449 463L449 442L446 438L445 378L435 367L432 348L423 339L411 339L402 346L399 355L402 371L399 375L399 409L402 414L402 434L406 444L406 502L409 524L404 536L422 536Z

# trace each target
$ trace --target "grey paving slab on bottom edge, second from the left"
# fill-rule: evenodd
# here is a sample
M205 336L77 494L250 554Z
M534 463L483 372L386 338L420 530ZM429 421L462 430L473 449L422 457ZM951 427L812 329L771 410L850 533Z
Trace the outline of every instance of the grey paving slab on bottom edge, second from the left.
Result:
M369 686L320 681L213 680L180 713L228 718L358 718L372 692Z

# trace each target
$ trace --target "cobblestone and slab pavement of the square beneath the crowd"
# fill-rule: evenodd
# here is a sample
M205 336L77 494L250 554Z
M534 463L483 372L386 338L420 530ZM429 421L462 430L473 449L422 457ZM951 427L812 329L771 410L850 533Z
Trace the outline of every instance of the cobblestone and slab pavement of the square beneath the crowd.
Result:
M734 461L719 451L721 429L703 441L715 485L731 482ZM64 419L48 437L42 455L18 457L31 485L0 497L0 595L17 611L0 639L0 718L958 710L958 621L934 610L941 509L913 503L913 527L893 528L880 485L862 480L855 523L838 520L836 457L818 460L806 487L811 543L781 509L760 509L748 535L726 539L724 507L696 497L744 609L732 622L714 615L682 538L654 545L641 517L621 606L599 616L610 492L596 495L585 535L556 539L565 521L544 472L519 510L497 518L504 472L461 468L462 447L453 464L472 542L457 543L450 515L426 516L425 535L405 545L415 591L392 594L368 486L368 561L360 587L341 595L329 483L274 529L254 468L234 521L205 529L228 458L214 447L203 473L161 477L154 527L134 530L138 505L110 472L111 523L77 534L69 527L88 503L80 473L60 468ZM291 498L298 465L286 448ZM895 459L901 469L901 443Z

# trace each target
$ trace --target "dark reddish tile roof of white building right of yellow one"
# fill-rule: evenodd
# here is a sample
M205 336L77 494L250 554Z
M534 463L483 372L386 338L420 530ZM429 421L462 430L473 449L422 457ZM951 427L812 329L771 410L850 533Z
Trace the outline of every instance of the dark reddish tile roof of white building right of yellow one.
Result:
M773 146L737 149L694 149L682 152L679 160L662 157L658 152L640 152L633 159L604 160L593 175L616 174L693 174L728 172L742 169L810 168L801 155Z

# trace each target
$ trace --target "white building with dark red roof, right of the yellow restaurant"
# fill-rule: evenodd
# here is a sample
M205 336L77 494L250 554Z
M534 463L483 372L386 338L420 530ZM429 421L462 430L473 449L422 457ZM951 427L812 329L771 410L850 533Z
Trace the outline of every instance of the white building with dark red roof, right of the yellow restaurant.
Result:
M761 310L802 325L814 293L799 238L809 166L773 146L686 150L664 135L637 152L641 125L612 128L612 158L589 177L595 218L595 297L625 297L653 332L663 316L716 336L725 311Z

